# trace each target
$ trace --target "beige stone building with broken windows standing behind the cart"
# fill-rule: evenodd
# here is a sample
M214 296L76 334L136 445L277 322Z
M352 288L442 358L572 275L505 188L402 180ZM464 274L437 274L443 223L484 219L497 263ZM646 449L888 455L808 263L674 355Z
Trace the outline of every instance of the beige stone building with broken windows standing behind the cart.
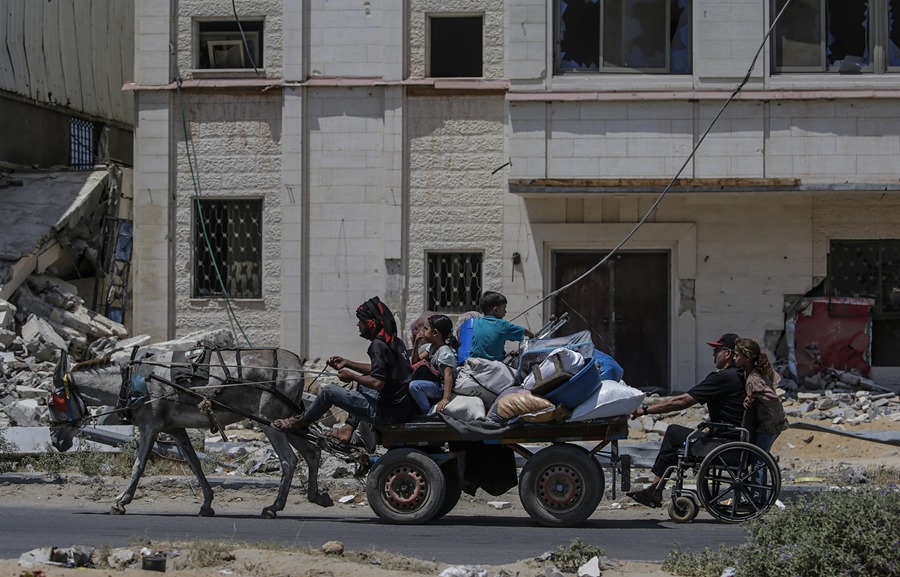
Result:
M135 323L355 358L372 295L497 290L642 388L724 332L896 382L898 33L864 4L792 2L705 134L783 1L138 0Z

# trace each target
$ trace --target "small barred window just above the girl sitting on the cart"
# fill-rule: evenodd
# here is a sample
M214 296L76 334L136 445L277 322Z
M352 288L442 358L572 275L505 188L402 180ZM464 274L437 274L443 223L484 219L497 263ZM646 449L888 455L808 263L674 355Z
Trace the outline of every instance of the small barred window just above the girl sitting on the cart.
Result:
M428 310L441 313L478 310L482 258L480 252L428 253L425 273Z

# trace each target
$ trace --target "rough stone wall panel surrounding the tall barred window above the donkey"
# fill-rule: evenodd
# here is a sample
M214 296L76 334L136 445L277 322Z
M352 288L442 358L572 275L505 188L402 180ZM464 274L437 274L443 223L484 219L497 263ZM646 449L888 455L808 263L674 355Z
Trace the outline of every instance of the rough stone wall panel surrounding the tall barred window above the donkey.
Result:
M224 299L192 299L193 215L200 198L263 199L262 299L237 299L237 342L277 346L281 310L281 95L231 92L184 94L193 140L191 157L176 131L175 307L176 335L229 326ZM199 187L195 189L191 168ZM244 338L246 335L246 339ZM249 343L246 342L249 340Z

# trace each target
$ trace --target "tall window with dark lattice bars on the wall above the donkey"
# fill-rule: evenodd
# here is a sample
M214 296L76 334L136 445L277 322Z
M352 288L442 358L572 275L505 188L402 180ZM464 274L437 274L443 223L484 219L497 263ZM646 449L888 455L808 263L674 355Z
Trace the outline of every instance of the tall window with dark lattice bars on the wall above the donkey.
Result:
M220 281L221 276L221 281ZM194 298L262 298L262 200L194 203Z

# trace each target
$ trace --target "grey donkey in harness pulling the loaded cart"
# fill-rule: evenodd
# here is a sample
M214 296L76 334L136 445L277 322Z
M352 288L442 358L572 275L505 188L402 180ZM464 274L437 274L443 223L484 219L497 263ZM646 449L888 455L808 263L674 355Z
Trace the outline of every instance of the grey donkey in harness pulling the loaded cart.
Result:
M61 352L54 375L55 389L47 403L53 421L50 439L58 451L72 447L75 435L88 416L85 405L116 405L123 379L130 379L133 392L141 393L139 402L129 409L140 432L131 482L116 497L111 514L125 513L125 506L134 498L156 437L165 432L174 439L203 490L200 515L215 515L211 506L212 488L185 429L209 428L211 425L221 428L244 418L252 418L262 425L263 433L281 462L278 495L274 503L262 510L264 518L274 518L287 503L297 466L292 446L303 456L309 470L309 501L323 507L334 504L327 492L319 492L321 448L314 438L271 426L272 421L295 414L298 405L302 405L304 371L297 355L285 349L213 350L208 353L208 363L201 367L204 377L208 373L209 386L189 389L175 384L175 371L185 366L184 362L173 361L176 354L163 352L133 361L125 370L106 359L98 359L76 364L70 371L68 356L65 351ZM132 375L133 368L137 370Z

